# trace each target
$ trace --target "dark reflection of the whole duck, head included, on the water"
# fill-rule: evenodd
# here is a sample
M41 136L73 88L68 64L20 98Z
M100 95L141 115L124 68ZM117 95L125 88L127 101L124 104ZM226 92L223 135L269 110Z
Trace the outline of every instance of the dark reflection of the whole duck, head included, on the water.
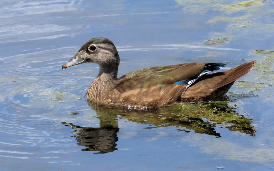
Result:
M62 122L71 126L76 134L73 137L78 141L78 145L88 148L83 151L98 151L97 153L107 153L118 150L116 148L118 141L117 133L118 116L119 119L126 118L139 124L149 125L145 128L159 128L167 126L176 126L178 131L194 132L201 134L213 135L221 137L216 132L217 124L226 124L228 126L220 126L229 130L239 131L245 134L255 136L255 128L251 125L253 120L245 118L245 116L236 113L234 107L228 106L227 101L204 102L197 104L178 104L165 108L134 108L121 107L100 104L92 100L88 100L88 105L96 110L96 114L100 119L100 128L81 127L72 123ZM205 119L206 120L205 120Z

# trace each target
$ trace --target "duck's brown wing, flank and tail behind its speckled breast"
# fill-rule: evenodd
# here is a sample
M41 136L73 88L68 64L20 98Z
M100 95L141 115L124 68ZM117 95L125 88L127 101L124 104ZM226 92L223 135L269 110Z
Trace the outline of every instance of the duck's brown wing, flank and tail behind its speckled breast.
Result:
M207 65L189 63L150 67L127 73L120 77L119 84L108 92L106 101L122 105L159 107L181 102L213 100L223 96L236 79L247 74L255 65L255 61L228 71L203 75ZM177 84L178 82L180 84Z

